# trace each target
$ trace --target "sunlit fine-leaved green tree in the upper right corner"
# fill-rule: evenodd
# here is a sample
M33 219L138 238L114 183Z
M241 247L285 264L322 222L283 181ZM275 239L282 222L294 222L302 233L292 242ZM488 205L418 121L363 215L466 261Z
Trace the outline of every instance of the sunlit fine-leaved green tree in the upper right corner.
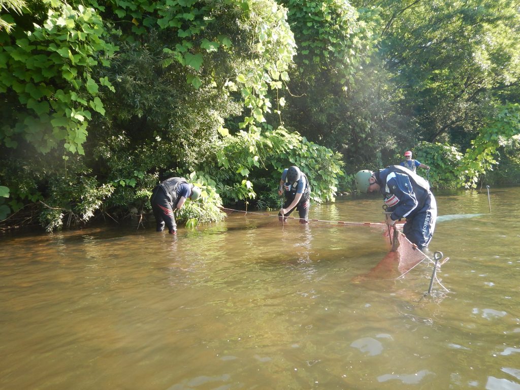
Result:
M469 146L520 75L517 4L382 1L382 54L419 139Z

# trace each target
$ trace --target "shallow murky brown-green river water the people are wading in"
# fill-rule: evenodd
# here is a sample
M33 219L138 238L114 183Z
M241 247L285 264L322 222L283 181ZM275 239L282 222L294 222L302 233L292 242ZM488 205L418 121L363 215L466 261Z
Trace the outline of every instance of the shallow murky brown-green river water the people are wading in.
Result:
M426 296L431 263L367 279L384 229L334 223L381 222L380 196L307 226L4 235L0 388L520 389L517 190L490 189L491 212L486 189L436 194L449 260Z

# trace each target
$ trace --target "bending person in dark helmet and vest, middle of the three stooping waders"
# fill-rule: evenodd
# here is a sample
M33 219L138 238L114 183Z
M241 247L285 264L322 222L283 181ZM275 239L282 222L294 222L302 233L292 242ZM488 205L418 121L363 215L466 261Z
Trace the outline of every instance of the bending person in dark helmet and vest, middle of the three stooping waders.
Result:
M307 224L310 206L310 184L307 176L297 166L291 166L283 170L278 195L285 194L285 203L278 216L287 217L295 209L300 214L300 223ZM282 217L283 216L283 217ZM283 219L285 220L285 219Z

